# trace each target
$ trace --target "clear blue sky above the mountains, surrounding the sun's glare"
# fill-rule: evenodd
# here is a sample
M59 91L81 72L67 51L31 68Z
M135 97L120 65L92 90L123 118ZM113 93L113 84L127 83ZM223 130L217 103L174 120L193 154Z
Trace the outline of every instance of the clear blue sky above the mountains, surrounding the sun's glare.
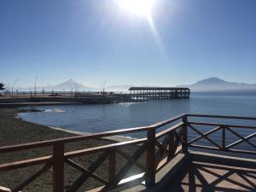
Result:
M156 0L155 31L115 1L1 0L0 81L256 83L255 0Z

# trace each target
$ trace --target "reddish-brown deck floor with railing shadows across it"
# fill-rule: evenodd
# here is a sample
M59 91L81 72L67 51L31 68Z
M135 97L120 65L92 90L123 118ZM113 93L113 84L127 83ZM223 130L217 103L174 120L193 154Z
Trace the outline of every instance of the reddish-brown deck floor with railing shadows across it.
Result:
M194 154L200 156L201 154ZM251 166L241 164L231 157L218 156L218 161L211 160L214 157L208 154L209 160L188 160L176 177L173 177L161 191L167 192L243 192L256 191L256 161L251 160ZM216 158L216 157L215 157ZM232 160L232 166L227 161ZM246 160L244 160L246 162Z

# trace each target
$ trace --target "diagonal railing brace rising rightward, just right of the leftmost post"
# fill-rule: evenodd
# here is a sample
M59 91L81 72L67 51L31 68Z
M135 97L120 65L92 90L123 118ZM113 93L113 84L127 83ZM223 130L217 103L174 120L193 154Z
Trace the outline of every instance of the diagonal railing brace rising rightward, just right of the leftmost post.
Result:
M98 166L102 165L102 162L108 158L108 151L104 151L98 159L90 165L88 168L89 172L95 172ZM71 185L66 191L67 192L75 192L77 191L81 185L90 177L87 173L82 173L82 175Z

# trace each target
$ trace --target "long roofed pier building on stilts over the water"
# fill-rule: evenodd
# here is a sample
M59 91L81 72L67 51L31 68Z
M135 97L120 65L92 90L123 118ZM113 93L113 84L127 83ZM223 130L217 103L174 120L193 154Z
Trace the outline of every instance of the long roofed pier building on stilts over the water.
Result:
M133 100L163 100L174 98L189 98L189 88L177 87L131 87L131 99Z

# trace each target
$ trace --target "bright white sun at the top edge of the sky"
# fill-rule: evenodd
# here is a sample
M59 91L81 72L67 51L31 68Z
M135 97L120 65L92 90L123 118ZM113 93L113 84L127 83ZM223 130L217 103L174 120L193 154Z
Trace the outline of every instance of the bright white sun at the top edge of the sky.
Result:
M116 0L116 2L133 15L148 16L151 15L155 0Z

